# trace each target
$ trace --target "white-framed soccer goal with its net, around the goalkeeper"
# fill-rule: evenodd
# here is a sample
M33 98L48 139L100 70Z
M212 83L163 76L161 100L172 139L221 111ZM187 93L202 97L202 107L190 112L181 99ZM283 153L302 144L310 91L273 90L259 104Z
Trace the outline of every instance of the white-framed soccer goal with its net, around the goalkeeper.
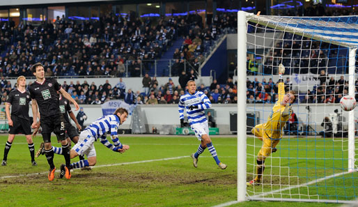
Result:
M357 202L357 114L339 104L356 93L357 22L357 16L238 12L238 201ZM264 142L249 132L247 118L256 125L269 118L279 97L280 64L285 91L297 99L260 174ZM253 179L260 182L247 186Z

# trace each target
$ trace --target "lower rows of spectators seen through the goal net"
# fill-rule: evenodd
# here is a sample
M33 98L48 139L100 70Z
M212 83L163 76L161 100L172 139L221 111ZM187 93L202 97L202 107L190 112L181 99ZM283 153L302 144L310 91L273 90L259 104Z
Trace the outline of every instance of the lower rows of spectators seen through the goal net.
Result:
M337 77L337 78L336 78ZM339 77L339 78L338 78ZM292 89L290 78L284 80L285 90ZM355 82L355 98L358 98L358 79ZM348 81L344 76L329 76L321 70L317 84L306 92L298 94L299 103L339 103L344 95L348 95ZM263 78L261 82L256 77L254 81L247 79L247 103L275 103L279 98L277 84L272 79Z

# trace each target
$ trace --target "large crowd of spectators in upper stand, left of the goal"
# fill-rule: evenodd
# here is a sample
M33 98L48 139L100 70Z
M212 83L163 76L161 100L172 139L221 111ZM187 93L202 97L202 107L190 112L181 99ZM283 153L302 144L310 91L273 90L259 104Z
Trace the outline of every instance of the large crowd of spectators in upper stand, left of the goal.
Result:
M188 20L192 23L187 24ZM57 17L55 22L38 26L0 22L0 75L31 76L31 65L42 62L48 76L121 77L125 64L130 76L136 77L139 68L150 70L151 61L162 56L172 40L199 22L202 19L197 14L169 20L160 17L155 25L150 17L114 14L93 21Z

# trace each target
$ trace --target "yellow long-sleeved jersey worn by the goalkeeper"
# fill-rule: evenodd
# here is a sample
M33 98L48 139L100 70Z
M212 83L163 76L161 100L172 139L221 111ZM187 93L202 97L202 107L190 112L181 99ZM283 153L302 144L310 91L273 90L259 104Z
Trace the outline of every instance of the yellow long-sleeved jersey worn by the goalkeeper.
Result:
M281 139L281 130L292 114L292 108L290 105L281 105L284 96L285 84L281 82L279 83L279 100L277 100L274 107L272 107L272 112L268 117L267 122L263 124L264 137L270 139Z

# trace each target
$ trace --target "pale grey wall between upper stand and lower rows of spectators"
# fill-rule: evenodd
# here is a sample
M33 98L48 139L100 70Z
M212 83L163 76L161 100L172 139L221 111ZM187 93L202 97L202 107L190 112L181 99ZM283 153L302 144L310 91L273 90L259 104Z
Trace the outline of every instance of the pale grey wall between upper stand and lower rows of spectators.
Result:
M171 77L173 79L173 82L176 86L178 86L179 84L179 77ZM134 93L136 91L141 91L143 92L143 84L141 83L143 77L123 77L123 82L125 82L127 88L126 91L128 89L132 89L132 91L134 91ZM8 81L11 82L11 85L14 86L16 83L16 79L7 79ZM80 84L83 84L84 81L86 80L88 84L91 85L92 82L95 83L96 86L100 86L105 84L106 80L109 81L109 84L111 84L112 88L114 86L116 86L116 84L118 84L119 82L119 77L108 77L108 78L61 78L58 79L60 84L63 84L63 82L67 82L67 84L70 84L70 82L73 82L74 84L76 84L77 81L79 81ZM35 79L26 79L26 82L34 82ZM169 82L169 77L157 77L157 81L159 83L159 86L162 86L164 84L166 84L167 82ZM200 86L200 84L204 84L204 86L210 86L210 84L212 83L212 77L209 76L202 76L202 77L198 77L198 79L196 79L196 86Z

